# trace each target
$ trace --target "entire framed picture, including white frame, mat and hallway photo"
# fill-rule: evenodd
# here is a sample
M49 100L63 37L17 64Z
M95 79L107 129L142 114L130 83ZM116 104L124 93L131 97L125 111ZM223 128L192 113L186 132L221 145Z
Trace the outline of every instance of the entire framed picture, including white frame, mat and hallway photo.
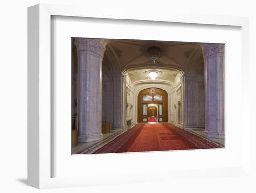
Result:
M249 178L248 53L246 17L29 7L28 184Z

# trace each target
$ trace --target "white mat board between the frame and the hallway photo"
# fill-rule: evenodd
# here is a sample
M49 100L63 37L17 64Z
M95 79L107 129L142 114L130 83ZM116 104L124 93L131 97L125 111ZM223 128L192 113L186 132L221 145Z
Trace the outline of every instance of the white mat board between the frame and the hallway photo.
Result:
M203 28L202 25L175 25L163 22L162 25L154 24L155 22L120 22L113 19L110 21L79 19L78 21L75 18L53 17L51 26L54 59L51 65L52 90L54 90L52 105L55 110L52 111L51 116L55 123L51 129L55 134L53 141L56 147L52 159L55 166L52 167L53 177L95 175L105 178L106 175L106 178L109 178L109 174L112 174L112 176L119 175L120 180L121 176L131 172L141 173L143 178L145 176L143 174L147 175L155 171L187 170L189 175L189 170L193 169L240 166L241 115L237 112L241 112L241 106L238 105L234 111L233 105L237 101L242 101L241 94L238 94L242 93L241 28L230 26ZM71 37L225 43L225 149L70 156L72 137L69 117L72 113L71 105L67 104L71 101ZM233 121L234 119L236 122ZM113 171L114 168L118 169Z

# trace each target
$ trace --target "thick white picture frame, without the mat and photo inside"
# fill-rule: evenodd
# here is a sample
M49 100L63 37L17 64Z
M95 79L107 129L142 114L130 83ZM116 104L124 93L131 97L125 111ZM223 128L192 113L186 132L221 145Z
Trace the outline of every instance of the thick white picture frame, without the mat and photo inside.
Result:
M86 12L84 11L86 10ZM68 16L68 17L84 17L84 18L105 18L105 19L129 19L140 21L172 22L172 23L189 23L202 25L218 25L218 26L239 26L242 31L242 82L240 88L243 92L241 97L241 123L243 123L244 133L241 135L240 142L243 151L239 155L241 161L236 167L213 167L198 169L188 172L182 170L151 170L149 173L141 171L131 171L123 173L121 176L110 175L106 179L105 175L69 176L69 177L53 177L52 170L56 167L52 161L54 156L51 151L54 133L51 131L53 119L51 118L51 16ZM113 14L114 15L114 14ZM94 9L87 9L83 6L64 6L38 4L28 8L28 185L36 188L56 188L56 187L81 187L100 184L119 184L119 183L138 183L151 182L168 179L196 179L209 177L205 173L218 178L225 176L244 177L249 175L249 121L246 113L249 111L249 93L246 84L249 76L246 69L249 69L249 18L237 16L220 16L220 15L196 15L196 14L165 14L151 15L133 13L123 11L114 16L110 16L108 10L95 12ZM229 142L227 142L229 146ZM166 152L165 154L168 154ZM180 154L176 152L175 154ZM193 152L190 153L192 156ZM123 155L123 154L122 154ZM152 154L150 154L151 156ZM71 154L70 154L71 156ZM86 155L89 156L89 155ZM100 156L104 155L97 155ZM136 159L142 159L149 156L148 154L136 153L132 155ZM102 157L101 157L102 158ZM81 159L76 156L76 159ZM63 160L65 163L65 161ZM190 175L191 174L191 175ZM161 178L159 176L162 176Z

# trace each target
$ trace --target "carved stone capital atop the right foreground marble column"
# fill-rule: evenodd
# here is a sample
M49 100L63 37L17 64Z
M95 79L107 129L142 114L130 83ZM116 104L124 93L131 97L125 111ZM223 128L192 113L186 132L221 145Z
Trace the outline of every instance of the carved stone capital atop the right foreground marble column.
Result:
M203 44L202 54L204 60L216 56L216 54L223 54L225 50L224 44Z

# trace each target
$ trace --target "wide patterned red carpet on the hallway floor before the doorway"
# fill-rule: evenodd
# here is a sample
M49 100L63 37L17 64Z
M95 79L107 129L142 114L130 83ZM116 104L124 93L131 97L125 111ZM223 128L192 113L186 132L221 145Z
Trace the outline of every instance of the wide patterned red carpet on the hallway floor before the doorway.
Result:
M218 148L172 124L137 124L94 154Z

